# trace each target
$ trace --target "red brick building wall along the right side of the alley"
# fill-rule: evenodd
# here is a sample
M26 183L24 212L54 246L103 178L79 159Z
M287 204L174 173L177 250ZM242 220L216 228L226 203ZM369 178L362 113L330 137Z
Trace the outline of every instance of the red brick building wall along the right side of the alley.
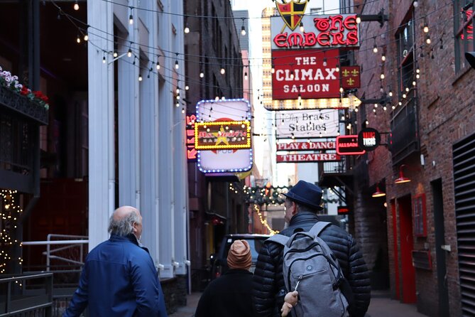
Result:
M383 7L382 7L383 6ZM361 48L355 52L356 63L361 65L361 89L358 92L360 99L377 99L381 97L382 85L386 94L391 90L394 95L391 105L396 108L381 109L383 104L378 104L373 112L374 104L362 104L366 111L361 111L357 116L356 127L358 132L365 119L368 127L373 127L381 132L391 131L391 118L404 107L405 100L398 97L398 46L396 34L400 26L411 17L414 21L414 64L420 68L420 78L417 79L415 93L418 124L418 139L420 147L413 154L404 156L395 162L388 146L379 146L376 151L369 152L361 157L360 164L367 164L368 187L359 189L355 193L354 232L362 245L368 265L374 263L376 254L374 244L368 247L364 242L365 232L374 231L371 225L375 221L368 219L375 217L373 213L386 215L387 225L387 253L389 267L389 283L391 292L396 299L413 301L408 296L410 292L408 275L403 274L404 263L401 261L401 252L404 252L405 241L417 251L428 251L431 254L432 269L415 268L415 302L417 310L428 316L440 316L439 291L436 261L436 230L435 230L435 197L434 186L437 181L442 182L443 198L443 227L444 244L449 245L450 252L446 254L447 289L449 299L449 316L462 316L461 289L459 281L459 257L457 252L457 223L454 205L454 166L452 163L452 146L466 136L475 133L474 114L474 82L475 70L468 63L456 72L455 40L454 40L454 4L452 1L418 1L418 6L413 6L413 1L368 1L359 5L356 11L362 15L378 14L384 9L388 14L388 21L381 27L376 21L366 21L360 24ZM457 16L457 14L456 14ZM429 33L424 33L423 27L427 23ZM426 43L429 34L432 43ZM378 53L373 53L373 46L378 47ZM386 54L386 61L381 60L381 53ZM462 58L463 61L463 58ZM382 83L381 72L385 75ZM412 83L412 80L410 80ZM412 88L412 87L411 87ZM403 100L403 106L398 102ZM361 117L361 114L365 114ZM391 141L383 134L382 142ZM423 156L423 161L421 160ZM422 164L423 163L423 164ZM401 164L405 176L412 179L410 183L395 184ZM355 180L358 183L358 179ZM386 190L386 197L371 198L376 184ZM386 185L384 185L386 184ZM437 186L436 186L437 187ZM357 189L358 190L358 189ZM365 193L366 190L366 193ZM424 193L426 203L427 237L417 237L412 232L412 237L401 237L404 224L414 225L412 202L416 195ZM386 202L387 207L381 205ZM393 219L394 207L396 220ZM405 218L402 213L408 213ZM393 227L396 224L396 228ZM403 229L401 229L403 228ZM395 230L394 230L395 229ZM384 240L380 240L386 242ZM401 245L403 241L403 245ZM407 250L406 250L407 251ZM396 277L398 276L398 278ZM405 294L406 292L406 294Z

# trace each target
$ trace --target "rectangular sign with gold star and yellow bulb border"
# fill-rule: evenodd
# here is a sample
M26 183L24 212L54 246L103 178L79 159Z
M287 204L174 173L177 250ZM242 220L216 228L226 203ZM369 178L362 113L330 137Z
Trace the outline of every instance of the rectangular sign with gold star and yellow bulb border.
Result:
M195 149L251 149L251 122L197 122Z

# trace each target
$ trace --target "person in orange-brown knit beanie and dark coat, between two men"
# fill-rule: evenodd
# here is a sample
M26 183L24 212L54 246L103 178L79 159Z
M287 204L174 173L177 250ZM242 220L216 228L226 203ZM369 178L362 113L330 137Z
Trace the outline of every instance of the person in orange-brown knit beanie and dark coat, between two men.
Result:
M236 240L229 247L229 270L214 279L198 301L195 317L253 317L251 247Z

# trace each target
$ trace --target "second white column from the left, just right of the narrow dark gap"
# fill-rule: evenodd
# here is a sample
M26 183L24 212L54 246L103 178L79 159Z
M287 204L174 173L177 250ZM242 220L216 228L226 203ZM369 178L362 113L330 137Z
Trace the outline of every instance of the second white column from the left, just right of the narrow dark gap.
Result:
M119 205L131 205L141 210L139 183L139 96L138 96L138 29L136 21L128 27L127 41L119 42L119 55L127 53L132 56L119 58L118 98L119 98ZM131 44L133 42L133 44ZM136 56L137 58L134 58ZM133 62L135 61L135 65Z

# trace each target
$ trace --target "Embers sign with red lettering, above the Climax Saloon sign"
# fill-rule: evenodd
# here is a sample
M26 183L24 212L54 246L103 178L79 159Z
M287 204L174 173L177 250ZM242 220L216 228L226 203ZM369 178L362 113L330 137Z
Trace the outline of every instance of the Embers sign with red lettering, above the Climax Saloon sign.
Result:
M272 48L358 48L356 14L302 16L304 31L288 28L283 18L271 18ZM288 28L289 32L284 32ZM295 28L298 30L298 28Z

